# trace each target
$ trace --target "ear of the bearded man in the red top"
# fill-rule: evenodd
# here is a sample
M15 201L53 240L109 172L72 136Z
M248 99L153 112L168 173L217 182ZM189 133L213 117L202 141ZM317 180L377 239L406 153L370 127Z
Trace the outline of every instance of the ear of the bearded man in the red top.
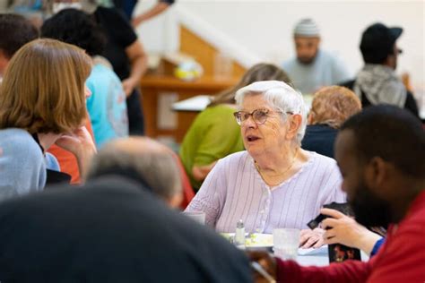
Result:
M382 187L390 174L386 160L379 157L370 159L364 172L366 184L373 189Z

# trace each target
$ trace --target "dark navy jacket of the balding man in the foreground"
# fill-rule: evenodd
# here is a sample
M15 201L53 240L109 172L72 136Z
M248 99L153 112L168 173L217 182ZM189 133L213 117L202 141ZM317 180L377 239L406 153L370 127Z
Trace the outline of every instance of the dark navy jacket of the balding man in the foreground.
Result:
M252 282L244 253L154 188L103 176L53 189L0 206L2 282Z

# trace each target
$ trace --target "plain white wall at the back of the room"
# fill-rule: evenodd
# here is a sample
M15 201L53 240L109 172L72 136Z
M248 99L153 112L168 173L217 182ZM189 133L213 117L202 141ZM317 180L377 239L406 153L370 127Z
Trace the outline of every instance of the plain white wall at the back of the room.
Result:
M154 1L140 2L138 8L146 9L143 6ZM178 10L186 13L178 13ZM205 26L212 27L217 34L225 34L232 41L230 46L239 46L258 60L273 63L294 56L291 35L294 23L300 18L314 18L322 31L322 47L341 56L353 74L362 65L359 50L362 30L375 21L401 26L404 32L397 43L403 48L403 55L399 57L397 72L409 72L415 89L425 89L425 2L421 0L177 0L169 13L139 30L148 50L178 47L176 25L178 15L182 14L194 18L196 24L204 21Z

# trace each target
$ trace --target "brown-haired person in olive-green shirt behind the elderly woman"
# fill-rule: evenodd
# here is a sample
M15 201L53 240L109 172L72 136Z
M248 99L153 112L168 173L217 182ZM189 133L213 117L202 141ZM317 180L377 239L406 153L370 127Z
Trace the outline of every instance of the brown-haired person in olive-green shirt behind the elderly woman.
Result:
M244 150L239 125L236 124L235 92L254 81L285 81L290 79L273 64L256 64L244 74L239 83L218 94L210 105L196 116L183 140L179 152L192 186L199 190L205 177L218 159Z

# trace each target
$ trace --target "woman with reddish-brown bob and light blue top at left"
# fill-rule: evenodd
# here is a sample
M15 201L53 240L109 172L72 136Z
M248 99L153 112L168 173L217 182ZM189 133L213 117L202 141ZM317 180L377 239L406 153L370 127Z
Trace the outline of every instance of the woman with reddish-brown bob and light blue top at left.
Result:
M44 155L54 143L84 172L96 151L82 126L90 72L82 49L57 40L36 39L13 56L0 85L1 201L44 188Z

